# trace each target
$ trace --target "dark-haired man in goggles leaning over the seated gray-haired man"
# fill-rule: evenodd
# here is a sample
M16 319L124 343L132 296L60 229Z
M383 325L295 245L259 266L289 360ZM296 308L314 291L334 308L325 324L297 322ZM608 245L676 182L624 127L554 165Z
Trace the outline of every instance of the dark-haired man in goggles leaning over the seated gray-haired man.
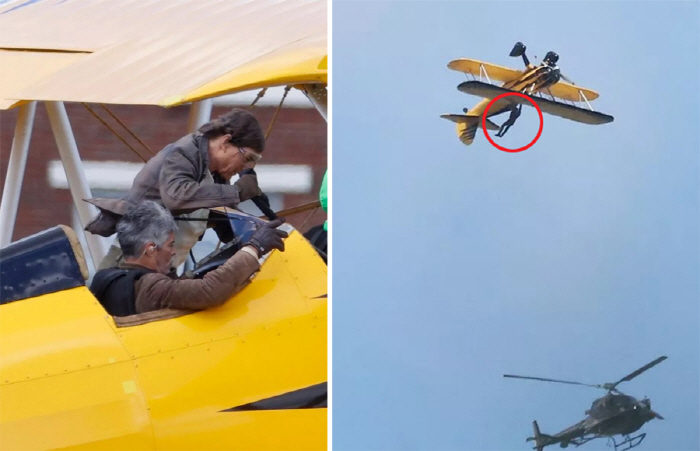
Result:
M265 135L258 120L248 111L235 108L165 146L139 171L122 199L86 200L100 213L85 230L112 236L130 207L142 200L156 201L173 215L191 219L180 221L175 235L172 263L176 268L206 231L209 208L235 208L243 201L264 198L257 175L250 171L264 149ZM240 178L230 184L235 174ZM121 258L122 250L115 240L98 269L117 266Z

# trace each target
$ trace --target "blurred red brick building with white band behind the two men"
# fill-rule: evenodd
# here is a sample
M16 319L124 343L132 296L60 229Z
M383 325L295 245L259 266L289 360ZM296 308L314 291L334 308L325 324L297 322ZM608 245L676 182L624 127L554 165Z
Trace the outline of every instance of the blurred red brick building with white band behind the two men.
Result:
M216 99L215 118L232 107L247 107L255 93ZM253 108L267 130L282 96L282 90L268 93ZM90 107L141 154L148 151L134 140L98 105ZM177 140L187 131L189 106L169 109L155 106L109 105L108 108L152 152ZM82 104L66 103L83 167L93 196L120 196L131 186L133 175L143 164L127 145L100 123ZM0 187L4 186L17 109L0 111ZM318 199L318 190L327 167L326 121L303 94L290 91L279 111L267 140L264 158L256 170L263 191L270 196L274 210L289 208ZM257 212L250 202L244 211ZM322 223L326 214L317 209L290 216L288 221L302 232ZM37 104L34 127L22 184L13 241L56 224L79 229L65 172L56 141L42 103ZM78 230L76 230L78 231ZM111 241L108 240L108 241Z

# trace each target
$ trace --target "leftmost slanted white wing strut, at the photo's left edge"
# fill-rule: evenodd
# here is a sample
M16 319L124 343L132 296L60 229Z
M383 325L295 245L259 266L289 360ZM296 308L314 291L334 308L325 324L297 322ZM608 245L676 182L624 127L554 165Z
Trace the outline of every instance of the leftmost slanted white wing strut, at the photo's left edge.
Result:
M2 203L0 204L0 247L10 244L12 232L15 230L19 194L24 180L24 168L27 165L35 111L36 102L29 102L19 107L15 136L10 151L10 162L7 165L7 174L5 175L5 187L2 191Z

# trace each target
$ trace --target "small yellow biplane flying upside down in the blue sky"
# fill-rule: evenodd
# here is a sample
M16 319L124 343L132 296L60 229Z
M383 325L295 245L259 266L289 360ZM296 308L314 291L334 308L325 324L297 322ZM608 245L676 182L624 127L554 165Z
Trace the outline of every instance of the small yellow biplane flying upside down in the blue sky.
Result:
M561 73L557 66L559 56L556 53L548 52L542 63L535 66L528 60L525 50L526 47L518 42L510 52L512 57L522 57L525 64L525 69L522 71L472 59L457 59L450 61L447 65L448 68L464 72L471 77L469 81L461 83L457 89L466 94L484 97L484 100L474 108L465 108L465 114L443 114L440 116L457 124L457 136L462 143L468 146L474 141L477 129L482 126L484 111L491 100L501 94L511 92L529 96L543 113L564 119L584 124L606 124L613 121L612 116L593 111L589 102L598 97L597 92L576 86ZM560 81L560 79L565 81ZM492 84L492 81L501 81L503 84L496 86ZM588 108L576 105L576 103L583 102ZM486 128L503 130L502 126L498 126L489 118L513 111L514 107L519 104L532 106L527 99L518 96L508 96L494 102L488 110L488 117L485 120ZM514 116L508 125L512 125L515 118L517 116Z

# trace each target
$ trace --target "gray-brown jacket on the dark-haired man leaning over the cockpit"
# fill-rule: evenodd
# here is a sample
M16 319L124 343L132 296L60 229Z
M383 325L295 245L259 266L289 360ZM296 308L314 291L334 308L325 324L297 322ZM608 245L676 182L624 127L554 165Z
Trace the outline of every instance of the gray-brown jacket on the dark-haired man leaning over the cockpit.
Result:
M175 215L200 208L237 206L241 202L238 187L207 183L208 168L209 140L201 133L168 144L148 160L122 199L85 199L100 210L85 230L105 237L113 235L129 206L142 200L160 202Z

